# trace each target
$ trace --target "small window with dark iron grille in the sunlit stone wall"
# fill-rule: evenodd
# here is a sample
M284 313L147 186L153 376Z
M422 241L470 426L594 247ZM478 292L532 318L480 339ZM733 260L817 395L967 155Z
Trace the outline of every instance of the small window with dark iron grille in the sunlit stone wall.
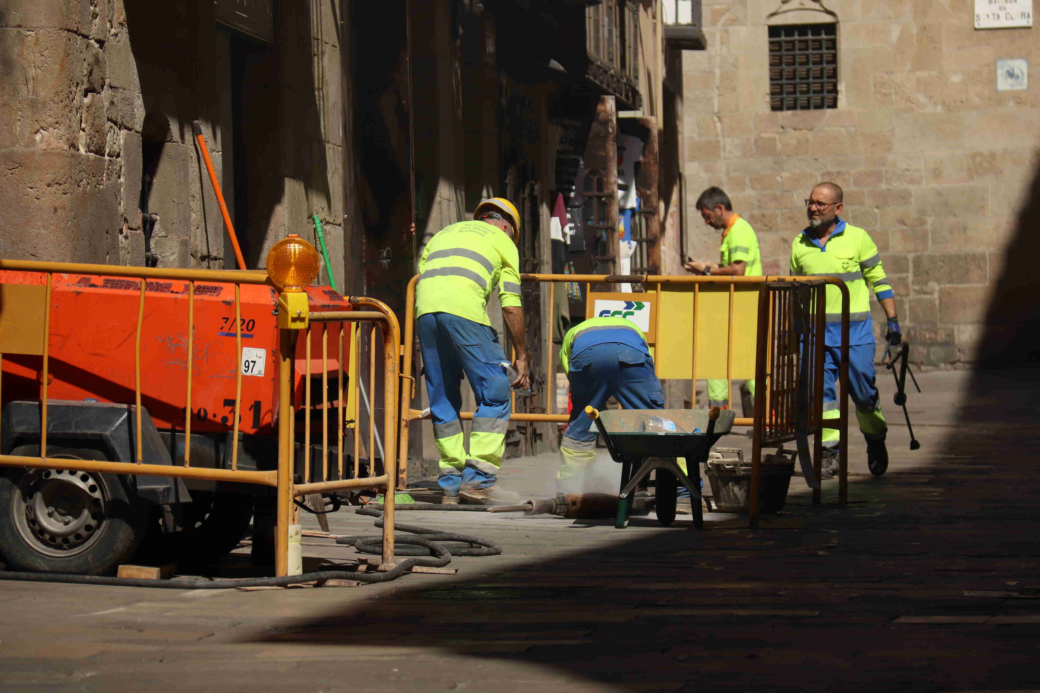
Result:
M838 106L836 24L770 27L770 104L775 111Z

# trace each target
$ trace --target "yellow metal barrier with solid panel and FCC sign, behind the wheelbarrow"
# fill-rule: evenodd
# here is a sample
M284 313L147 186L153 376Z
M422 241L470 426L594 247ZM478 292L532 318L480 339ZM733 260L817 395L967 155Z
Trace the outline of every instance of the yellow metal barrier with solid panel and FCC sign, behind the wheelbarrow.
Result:
M522 282L549 284L549 315L546 324L553 324L554 285L560 283L580 283L584 285L586 317L594 317L603 311L632 319L644 330L648 344L654 353L654 364L658 377L691 379L705 378L757 379L768 383L756 389L755 416L737 418L735 425L752 426L754 429L753 479L752 479L752 525L758 522L758 486L760 476L760 453L762 446L794 439L796 435L796 403L794 385L797 377L792 364L797 362L799 349L791 346L790 325L794 320L795 301L789 289L798 286L812 292L809 313L802 316L809 321L808 347L805 353L811 359L812 388L810 399L812 409L805 422L810 433L818 432L821 426L836 427L840 431L840 482L839 500L848 500L848 358L849 358L849 290L844 283L833 276L665 276L665 275L596 275L596 274L521 274ZM401 478L407 470L409 423L423 418L422 412L411 406L415 396L413 371L415 288L418 276L412 277L408 286L404 364L401 376L412 380L410 388L401 389L401 426L398 452L398 468ZM640 284L645 291L618 293L592 291L594 285ZM782 285L789 285L785 289ZM823 402L823 334L826 286L833 286L841 293L842 342L839 376L839 417L822 421ZM764 301L764 302L763 302ZM645 315L634 315L635 311L625 303L638 302ZM622 305L618 306L617 303ZM617 310L614 310L617 308ZM632 306L634 309L635 306ZM799 309L800 311L802 309ZM662 316L667 318L667 326ZM640 324L642 321L642 324ZM552 383L555 381L555 358L551 343L551 327L545 332L543 349L546 356L546 414L515 410L511 421L566 423L566 414L548 414L553 408ZM725 337L725 339L723 339ZM783 354L781 357L779 354ZM786 358L786 361L784 361ZM791 378L795 378L792 381ZM761 401L758 401L761 400ZM778 406L779 409L772 407ZM464 411L463 420L471 420L473 412ZM428 415L427 415L428 418ZM821 436L816 435L815 471L820 474ZM813 491L815 503L820 503L818 490Z

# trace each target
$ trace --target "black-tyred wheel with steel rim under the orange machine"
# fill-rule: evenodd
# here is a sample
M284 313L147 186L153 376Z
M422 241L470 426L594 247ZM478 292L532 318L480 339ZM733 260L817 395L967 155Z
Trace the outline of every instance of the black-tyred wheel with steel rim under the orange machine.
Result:
M35 457L40 446L12 455ZM58 459L104 459L97 450L47 447ZM146 512L118 476L12 469L0 476L0 554L8 568L105 575L145 536Z

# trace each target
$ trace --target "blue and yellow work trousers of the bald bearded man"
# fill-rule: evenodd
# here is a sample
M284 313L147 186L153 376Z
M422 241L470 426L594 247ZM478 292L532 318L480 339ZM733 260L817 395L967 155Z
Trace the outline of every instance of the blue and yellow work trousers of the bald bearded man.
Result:
M881 412L881 398L875 383L874 344L854 344L849 347L849 395L856 407L859 430L866 437L884 438L888 432L885 416ZM826 347L824 359L824 419L838 417L838 365L840 347ZM838 444L836 428L824 429L824 447Z

